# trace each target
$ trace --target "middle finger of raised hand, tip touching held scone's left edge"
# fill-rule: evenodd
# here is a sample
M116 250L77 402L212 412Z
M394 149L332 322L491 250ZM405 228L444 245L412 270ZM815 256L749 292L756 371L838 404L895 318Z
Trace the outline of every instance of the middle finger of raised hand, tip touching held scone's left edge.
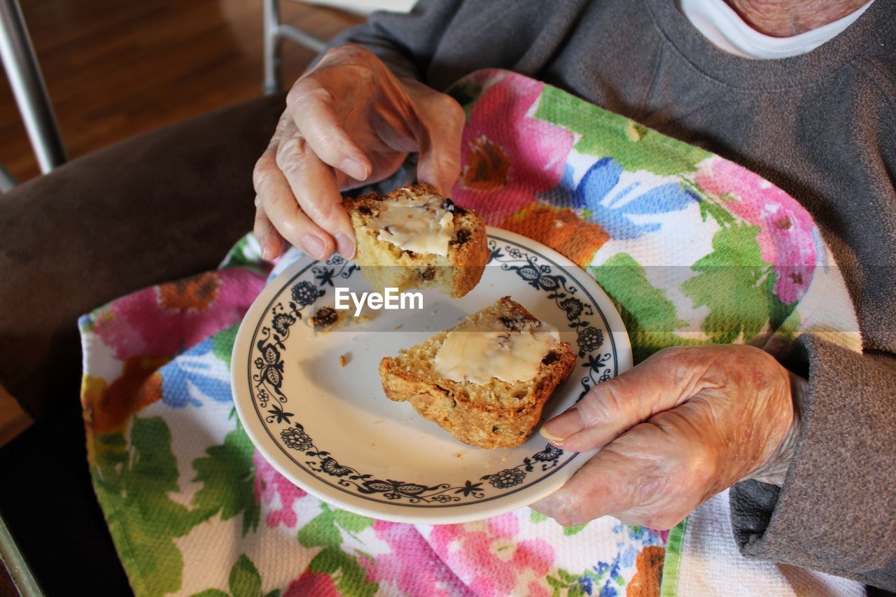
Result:
M311 151L306 139L299 134L280 141L277 166L286 177L302 211L335 239L340 255L346 259L353 258L355 230L349 214L342 207L342 195L332 168Z

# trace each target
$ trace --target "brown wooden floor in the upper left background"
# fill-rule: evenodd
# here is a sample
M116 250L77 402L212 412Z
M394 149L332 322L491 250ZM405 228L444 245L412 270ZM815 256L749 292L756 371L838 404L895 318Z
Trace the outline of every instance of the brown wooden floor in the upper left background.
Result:
M20 1L70 158L262 94L261 0ZM280 4L283 22L325 39L362 21ZM285 43L284 82L313 56ZM20 181L39 174L8 83L0 163Z

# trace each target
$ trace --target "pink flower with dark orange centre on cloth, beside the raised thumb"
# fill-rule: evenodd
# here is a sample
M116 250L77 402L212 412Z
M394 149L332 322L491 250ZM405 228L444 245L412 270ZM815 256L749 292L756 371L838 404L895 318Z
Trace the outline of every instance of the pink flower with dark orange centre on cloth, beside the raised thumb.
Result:
M500 224L563 177L573 134L527 116L544 86L505 74L470 111L461 139L461 177L452 197L489 224Z

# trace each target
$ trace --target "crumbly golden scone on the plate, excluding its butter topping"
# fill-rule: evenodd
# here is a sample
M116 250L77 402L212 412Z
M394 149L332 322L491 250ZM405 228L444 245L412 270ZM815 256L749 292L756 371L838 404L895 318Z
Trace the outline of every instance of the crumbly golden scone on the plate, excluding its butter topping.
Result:
M568 342L542 342L544 337L540 336L541 340L532 340L536 346L526 349L528 354L521 359L527 361L530 371L534 370L528 379L504 381L490 377L484 380L481 370L475 371L480 376L478 381L449 378L436 367L439 351L450 333L470 326L495 332L503 329L508 337L520 340L526 340L523 338L526 334L535 337L547 333L546 326L537 317L504 297L426 342L401 350L394 358L382 359L383 391L390 400L410 402L424 419L435 422L471 446L487 449L521 446L538 425L551 394L572 373L573 350ZM452 341L452 348L456 342ZM464 367L462 363L459 366ZM452 376L457 377L457 372L453 370Z

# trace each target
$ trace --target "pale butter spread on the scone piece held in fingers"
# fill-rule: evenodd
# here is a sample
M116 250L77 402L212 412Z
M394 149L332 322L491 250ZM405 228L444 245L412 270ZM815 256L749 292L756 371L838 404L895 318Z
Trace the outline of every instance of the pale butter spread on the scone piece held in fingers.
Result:
M382 203L367 222L377 237L406 251L421 255L448 255L454 237L454 215L437 195L404 195Z

